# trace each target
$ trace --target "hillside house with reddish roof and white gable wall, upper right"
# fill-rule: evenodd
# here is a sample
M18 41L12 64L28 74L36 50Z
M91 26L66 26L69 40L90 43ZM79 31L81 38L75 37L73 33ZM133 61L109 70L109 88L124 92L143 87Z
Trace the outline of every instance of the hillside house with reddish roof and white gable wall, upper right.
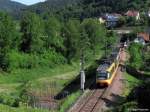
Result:
M140 19L140 13L139 13L139 11L128 10L128 11L125 13L125 16L128 16L128 17L135 17L136 20L139 20L139 19Z

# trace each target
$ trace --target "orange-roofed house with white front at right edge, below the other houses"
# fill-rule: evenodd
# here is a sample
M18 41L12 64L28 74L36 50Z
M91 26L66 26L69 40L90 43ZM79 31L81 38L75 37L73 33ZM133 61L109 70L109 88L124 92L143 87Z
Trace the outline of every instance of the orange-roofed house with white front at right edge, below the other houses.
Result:
M134 40L134 42L145 45L147 42L150 42L150 35L148 33L139 33L137 34L137 38Z

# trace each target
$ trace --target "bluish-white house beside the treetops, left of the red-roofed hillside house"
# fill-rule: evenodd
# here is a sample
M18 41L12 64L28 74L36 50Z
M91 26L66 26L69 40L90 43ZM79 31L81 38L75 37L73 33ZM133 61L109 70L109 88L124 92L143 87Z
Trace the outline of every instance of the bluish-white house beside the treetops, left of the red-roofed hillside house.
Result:
M115 13L114 14L106 14L104 16L104 19L106 21L106 26L109 28L116 27L120 17L121 17L120 14L115 14Z

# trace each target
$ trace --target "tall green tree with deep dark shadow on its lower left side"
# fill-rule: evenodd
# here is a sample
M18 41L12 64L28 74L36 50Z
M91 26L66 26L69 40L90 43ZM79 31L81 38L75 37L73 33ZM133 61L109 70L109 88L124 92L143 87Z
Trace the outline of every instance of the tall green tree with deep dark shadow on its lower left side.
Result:
M26 12L21 20L21 51L40 53L43 50L44 30L43 22L35 13Z

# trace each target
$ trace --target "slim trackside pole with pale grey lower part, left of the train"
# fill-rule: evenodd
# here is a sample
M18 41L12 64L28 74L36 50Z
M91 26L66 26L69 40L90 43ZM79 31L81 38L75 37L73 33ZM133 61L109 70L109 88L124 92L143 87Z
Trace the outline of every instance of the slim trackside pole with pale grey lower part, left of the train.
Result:
M85 84L85 71L84 71L84 54L83 54L83 49L81 49L81 60L80 60L80 84L81 84L81 90L84 91L84 84Z

